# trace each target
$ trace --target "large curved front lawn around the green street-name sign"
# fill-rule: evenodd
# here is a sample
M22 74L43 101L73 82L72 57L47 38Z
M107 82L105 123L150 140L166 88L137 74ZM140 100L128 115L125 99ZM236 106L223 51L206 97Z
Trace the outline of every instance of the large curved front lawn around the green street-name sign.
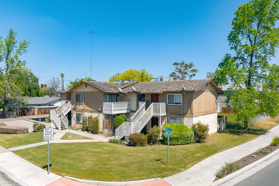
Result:
M165 145L133 148L105 142L50 144L50 171L61 176L101 181L164 178L260 134L225 130L209 136L203 144L170 146L169 166L166 165ZM47 145L13 152L39 167L47 165Z

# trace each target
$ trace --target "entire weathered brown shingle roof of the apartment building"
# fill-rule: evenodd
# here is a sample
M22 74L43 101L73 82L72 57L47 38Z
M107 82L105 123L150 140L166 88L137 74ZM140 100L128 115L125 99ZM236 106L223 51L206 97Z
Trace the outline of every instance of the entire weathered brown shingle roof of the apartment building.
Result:
M142 93L142 94L181 91L182 85L185 87L185 91L197 91L201 87L203 87L206 83L211 83L214 86L214 88L217 89L218 94L223 94L223 91L220 88L218 88L217 84L212 79L189 79L189 80L178 80L178 81L155 81L155 82L140 82L140 83L138 82L109 83L109 82L97 82L97 81L82 81L82 82L104 93L119 93L118 88L121 88L123 90L122 93L133 92L133 87L134 87L136 88L137 93ZM69 91L71 91L73 88L71 88Z

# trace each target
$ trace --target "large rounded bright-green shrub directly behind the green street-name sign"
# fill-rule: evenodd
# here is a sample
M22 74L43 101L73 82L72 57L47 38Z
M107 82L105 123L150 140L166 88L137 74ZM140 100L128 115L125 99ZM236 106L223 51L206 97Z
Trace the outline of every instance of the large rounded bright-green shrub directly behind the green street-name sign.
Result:
M169 135L170 145L183 145L193 142L193 132L184 124L168 123L163 126L163 142L168 143L165 127L172 129L172 134Z

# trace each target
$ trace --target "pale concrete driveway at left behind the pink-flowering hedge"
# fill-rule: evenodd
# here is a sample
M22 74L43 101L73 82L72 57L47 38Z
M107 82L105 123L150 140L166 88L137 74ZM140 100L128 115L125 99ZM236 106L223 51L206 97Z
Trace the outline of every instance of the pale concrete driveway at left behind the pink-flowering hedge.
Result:
M51 126L51 123L45 123L45 118L48 115L41 115L41 122L42 124L45 124L45 126L48 128ZM30 120L29 117L15 117L15 118L7 118L7 119L0 119L0 123L4 123L6 125L10 126L21 126L21 127L28 127L28 132L33 132L33 122L39 122L39 116L32 117L32 121L26 121Z

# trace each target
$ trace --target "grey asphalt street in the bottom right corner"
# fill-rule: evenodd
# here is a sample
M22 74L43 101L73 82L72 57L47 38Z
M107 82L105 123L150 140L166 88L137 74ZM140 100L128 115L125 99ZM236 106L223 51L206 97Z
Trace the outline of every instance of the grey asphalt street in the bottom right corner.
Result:
M252 176L242 180L234 186L278 186L279 185L279 160L274 161Z

